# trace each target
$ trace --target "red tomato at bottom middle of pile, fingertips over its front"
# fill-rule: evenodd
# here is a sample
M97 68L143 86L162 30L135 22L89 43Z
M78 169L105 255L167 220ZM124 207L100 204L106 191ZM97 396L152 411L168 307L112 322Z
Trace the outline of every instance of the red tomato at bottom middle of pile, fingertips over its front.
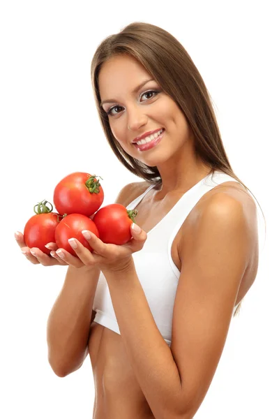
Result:
M83 244L86 249L93 251L92 247L89 245L89 242L84 239L82 230L89 230L97 237L100 237L95 223L89 219L88 216L82 214L70 214L65 216L60 221L55 230L55 242L57 246L61 247L61 249L65 249L73 256L77 256L77 253L75 253L74 249L72 249L68 243L68 239L74 237L81 244Z

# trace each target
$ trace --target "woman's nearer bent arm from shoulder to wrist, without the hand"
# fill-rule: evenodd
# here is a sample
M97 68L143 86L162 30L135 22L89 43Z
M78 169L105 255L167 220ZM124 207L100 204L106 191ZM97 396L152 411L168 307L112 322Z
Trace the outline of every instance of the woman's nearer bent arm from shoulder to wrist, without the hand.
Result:
M223 352L251 247L241 205L221 195L213 196L190 244L181 247L170 348L133 263L126 272L105 274L130 364L156 419L193 418Z

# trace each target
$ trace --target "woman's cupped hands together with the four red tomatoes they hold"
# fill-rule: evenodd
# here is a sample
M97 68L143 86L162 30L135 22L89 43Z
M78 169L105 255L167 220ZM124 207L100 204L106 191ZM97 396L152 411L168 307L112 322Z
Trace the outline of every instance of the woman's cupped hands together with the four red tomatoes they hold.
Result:
M144 246L147 235L132 228L137 210L127 210L120 204L100 208L103 198L95 175L74 172L64 177L54 189L58 213L52 212L52 204L47 207L46 200L38 203L24 235L15 235L22 253L31 263L44 266L125 270L133 263L132 254Z

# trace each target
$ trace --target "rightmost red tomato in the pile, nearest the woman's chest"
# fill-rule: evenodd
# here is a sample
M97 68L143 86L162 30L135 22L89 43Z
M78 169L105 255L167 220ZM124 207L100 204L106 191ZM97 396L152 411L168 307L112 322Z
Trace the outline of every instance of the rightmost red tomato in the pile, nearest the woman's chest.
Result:
M94 214L100 240L104 243L125 244L131 238L130 225L135 222L137 210L126 210L121 204L110 204Z

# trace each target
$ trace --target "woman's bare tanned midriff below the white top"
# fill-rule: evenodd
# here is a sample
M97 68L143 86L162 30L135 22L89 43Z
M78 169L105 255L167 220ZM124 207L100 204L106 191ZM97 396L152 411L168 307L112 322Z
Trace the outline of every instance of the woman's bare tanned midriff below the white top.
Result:
M95 383L93 419L154 418L128 361L121 335L93 323L89 355Z

